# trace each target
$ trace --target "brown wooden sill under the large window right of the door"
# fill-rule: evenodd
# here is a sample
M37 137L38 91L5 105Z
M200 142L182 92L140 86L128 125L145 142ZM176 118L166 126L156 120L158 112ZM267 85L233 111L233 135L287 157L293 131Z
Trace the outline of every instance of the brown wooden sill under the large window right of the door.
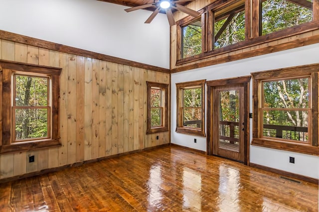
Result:
M267 148L280 149L292 152L299 152L309 155L319 155L319 147L309 144L296 144L272 139L253 138L252 145L263 146Z

